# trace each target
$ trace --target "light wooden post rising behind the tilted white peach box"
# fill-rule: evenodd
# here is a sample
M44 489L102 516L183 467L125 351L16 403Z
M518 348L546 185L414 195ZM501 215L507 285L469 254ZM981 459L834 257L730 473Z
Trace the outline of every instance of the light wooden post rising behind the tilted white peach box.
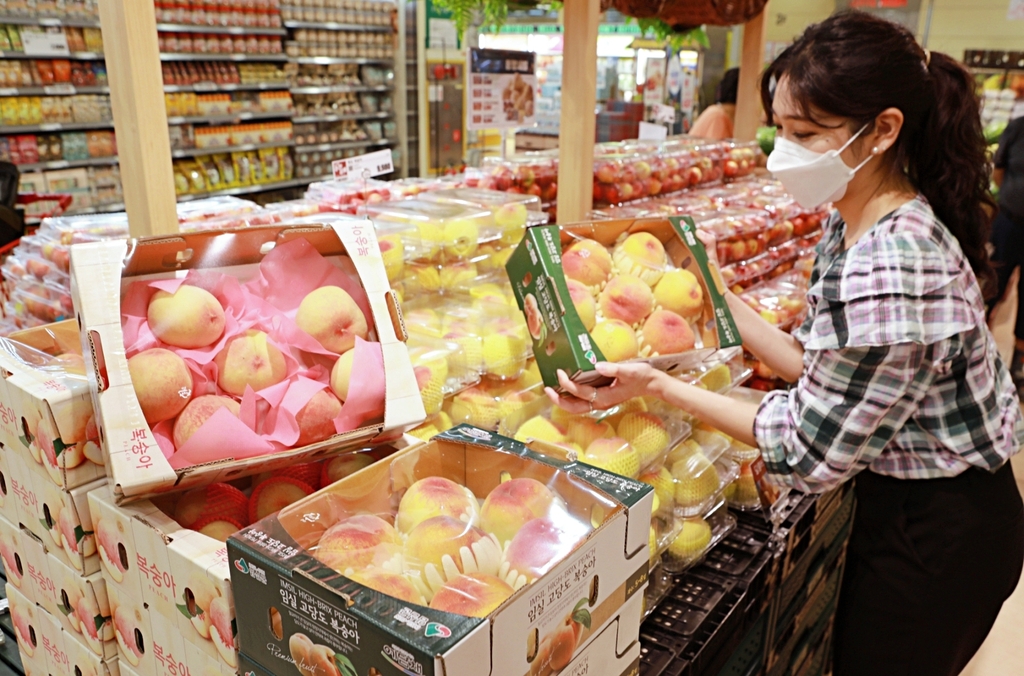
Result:
M100 0L111 107L133 237L178 231L155 5Z

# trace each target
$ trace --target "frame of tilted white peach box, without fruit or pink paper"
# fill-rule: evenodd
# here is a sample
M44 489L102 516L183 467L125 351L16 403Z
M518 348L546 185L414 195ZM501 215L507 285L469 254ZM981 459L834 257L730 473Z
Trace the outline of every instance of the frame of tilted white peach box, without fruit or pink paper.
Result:
M290 451L225 458L175 469L161 452L132 386L121 325L122 292L133 281L173 279L189 269L252 277L267 252L300 238L312 244L332 264L354 270L367 293L372 314L368 320L372 319L383 352L383 422ZM72 247L71 257L72 293L83 329L83 352L92 356L86 360L86 371L93 390L93 408L108 475L119 503L367 448L400 435L425 418L403 342L401 313L369 221L250 227L90 243Z

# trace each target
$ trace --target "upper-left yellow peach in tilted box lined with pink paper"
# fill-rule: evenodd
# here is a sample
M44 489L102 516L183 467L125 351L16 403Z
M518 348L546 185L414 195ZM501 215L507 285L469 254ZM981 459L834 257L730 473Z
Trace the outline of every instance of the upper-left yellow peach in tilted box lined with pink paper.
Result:
M220 301L209 291L187 284L174 293L155 293L146 319L153 334L175 347L206 347L224 335L224 308Z

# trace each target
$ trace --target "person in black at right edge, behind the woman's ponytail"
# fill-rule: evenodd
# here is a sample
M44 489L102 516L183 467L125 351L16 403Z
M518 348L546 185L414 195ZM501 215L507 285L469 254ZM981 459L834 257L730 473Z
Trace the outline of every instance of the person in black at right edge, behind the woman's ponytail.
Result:
M999 213L992 221L992 264L997 280L989 312L1010 286L1014 270L1024 263L1024 118L1007 125L993 160L992 182L999 186ZM1010 377L1024 392L1024 273L1017 280L1017 324Z

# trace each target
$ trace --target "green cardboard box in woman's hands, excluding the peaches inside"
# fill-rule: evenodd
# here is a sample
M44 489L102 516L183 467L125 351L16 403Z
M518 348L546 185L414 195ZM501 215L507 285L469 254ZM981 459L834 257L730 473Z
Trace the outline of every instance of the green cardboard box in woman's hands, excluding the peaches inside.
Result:
M562 270L562 247L578 239L594 240L611 247L621 237L635 233L656 237L673 265L696 277L703 291L703 309L694 332L699 348L631 361L645 362L660 371L690 370L715 350L741 344L725 302L721 274L708 259L703 245L696 238L693 221L688 217L536 225L526 228L506 269L527 325L537 327L531 330L534 354L546 385L560 389L559 369L579 383L600 386L610 382L594 370L594 365L605 357L572 304Z

